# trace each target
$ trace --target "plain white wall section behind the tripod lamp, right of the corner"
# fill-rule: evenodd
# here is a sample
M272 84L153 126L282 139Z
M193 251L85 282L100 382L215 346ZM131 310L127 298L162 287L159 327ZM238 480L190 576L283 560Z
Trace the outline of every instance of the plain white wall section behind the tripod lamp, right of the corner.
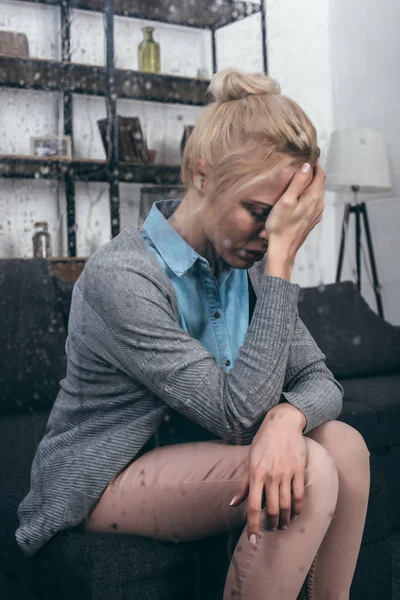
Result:
M400 324L400 3L398 0L331 0L330 38L335 129L371 127L387 142L393 191L362 195L367 203L385 318ZM337 210L337 234L343 215ZM344 277L355 269L354 222ZM364 248L366 242L364 239ZM362 265L362 293L376 310L373 289Z

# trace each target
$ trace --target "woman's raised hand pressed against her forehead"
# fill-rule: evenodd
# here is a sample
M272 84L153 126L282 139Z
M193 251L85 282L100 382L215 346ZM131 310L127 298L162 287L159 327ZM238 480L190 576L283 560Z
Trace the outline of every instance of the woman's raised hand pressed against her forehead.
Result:
M306 165L308 170L305 170ZM265 223L268 234L267 257L280 256L290 264L294 263L297 251L322 219L325 178L319 163L314 176L308 163L295 173Z

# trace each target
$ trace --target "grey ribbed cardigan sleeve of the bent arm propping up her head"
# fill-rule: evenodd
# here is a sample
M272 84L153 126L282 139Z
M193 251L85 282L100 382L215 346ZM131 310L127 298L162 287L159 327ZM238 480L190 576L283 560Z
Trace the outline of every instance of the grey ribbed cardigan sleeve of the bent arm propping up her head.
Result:
M299 286L262 278L244 344L227 374L181 329L159 274L131 263L106 260L94 265L95 274L93 262L86 265L74 293L90 316L76 333L173 409L222 438L247 443L281 399Z

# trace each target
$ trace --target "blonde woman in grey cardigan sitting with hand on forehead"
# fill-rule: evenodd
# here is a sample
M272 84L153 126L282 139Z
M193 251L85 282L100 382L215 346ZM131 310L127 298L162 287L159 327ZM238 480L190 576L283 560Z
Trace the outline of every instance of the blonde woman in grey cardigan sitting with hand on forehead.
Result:
M293 600L304 582L348 599L369 452L335 421L342 389L290 283L323 212L316 132L264 75L223 71L211 93L183 200L153 206L75 285L16 538L34 554L79 525L168 541L243 528L224 600Z

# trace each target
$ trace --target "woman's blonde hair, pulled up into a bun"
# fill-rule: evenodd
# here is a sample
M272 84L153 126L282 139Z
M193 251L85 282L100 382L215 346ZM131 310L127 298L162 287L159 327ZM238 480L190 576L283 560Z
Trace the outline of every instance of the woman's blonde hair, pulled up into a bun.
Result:
M210 168L216 193L239 182L245 188L262 181L282 162L317 162L314 125L271 77L225 69L214 75L208 92L213 101L183 154L186 189L193 185L199 159Z

